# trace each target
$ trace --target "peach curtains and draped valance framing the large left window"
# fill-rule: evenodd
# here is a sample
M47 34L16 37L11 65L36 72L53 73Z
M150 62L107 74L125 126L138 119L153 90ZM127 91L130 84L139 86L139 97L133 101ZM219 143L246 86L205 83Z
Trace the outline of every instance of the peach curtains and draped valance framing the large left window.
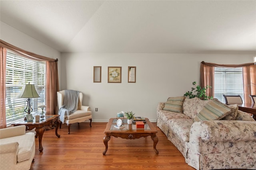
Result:
M31 53L29 51L25 51L14 45L11 45L5 41L0 39L0 48L1 48L1 68L0 68L0 78L1 78L1 88L0 88L0 97L1 97L1 113L0 113L0 126L6 127L6 110L5 110L5 99L6 99L6 53L7 50L10 50L17 55L26 57L28 59L36 60L36 61L46 61L46 101L50 106L46 107L46 113L57 113L56 107L57 102L57 90L59 90L59 80L58 80L58 59L52 59L48 57L44 57L41 55L37 55L35 53ZM4 52L5 51L5 52ZM5 53L5 56L4 56ZM50 63L48 63L50 62ZM55 63L55 64L53 64ZM48 71L47 71L48 70ZM4 81L4 82L3 82ZM2 104L4 103L4 105ZM4 120L2 120L4 119Z

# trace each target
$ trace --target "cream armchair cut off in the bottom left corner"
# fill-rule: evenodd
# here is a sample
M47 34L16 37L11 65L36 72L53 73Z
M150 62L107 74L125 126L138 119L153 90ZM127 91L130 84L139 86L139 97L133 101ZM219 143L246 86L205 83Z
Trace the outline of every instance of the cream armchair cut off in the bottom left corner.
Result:
M26 126L0 129L0 170L29 170L35 156L35 134Z

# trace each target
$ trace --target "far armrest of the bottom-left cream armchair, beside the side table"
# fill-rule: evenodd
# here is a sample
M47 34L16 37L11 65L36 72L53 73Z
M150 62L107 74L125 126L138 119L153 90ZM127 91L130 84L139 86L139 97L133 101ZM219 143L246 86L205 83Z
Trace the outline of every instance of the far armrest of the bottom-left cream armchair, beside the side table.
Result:
M8 127L8 128L0 129L0 139L20 136L20 135L24 135L25 133L26 133L25 125Z

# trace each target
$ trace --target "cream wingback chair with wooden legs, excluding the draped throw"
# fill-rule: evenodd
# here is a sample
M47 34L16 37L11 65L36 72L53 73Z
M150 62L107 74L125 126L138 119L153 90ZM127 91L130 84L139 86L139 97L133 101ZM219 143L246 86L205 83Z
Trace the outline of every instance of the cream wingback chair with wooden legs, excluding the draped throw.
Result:
M63 106L63 99L65 98L65 90L57 92L58 97L58 107L60 108ZM79 99L78 99L78 108L74 113L65 116L64 122L60 123L60 128L62 123L66 123L68 125L68 134L70 134L70 125L72 123L80 123L86 120L90 120L90 127L92 127L92 112L90 111L89 106L82 106L83 94L79 92Z

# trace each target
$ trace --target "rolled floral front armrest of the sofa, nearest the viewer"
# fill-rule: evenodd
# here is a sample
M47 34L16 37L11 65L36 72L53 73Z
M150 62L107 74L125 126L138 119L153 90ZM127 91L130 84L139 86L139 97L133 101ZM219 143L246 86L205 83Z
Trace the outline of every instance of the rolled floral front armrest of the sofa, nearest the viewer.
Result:
M256 141L256 121L198 121L190 129L191 149L200 151L200 141Z

